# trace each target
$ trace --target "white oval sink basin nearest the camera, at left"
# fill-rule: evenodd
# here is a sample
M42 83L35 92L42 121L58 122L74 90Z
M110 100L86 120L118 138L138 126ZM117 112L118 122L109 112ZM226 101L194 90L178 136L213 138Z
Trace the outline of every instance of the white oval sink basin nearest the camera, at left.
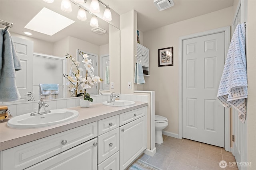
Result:
M76 110L55 109L51 113L31 116L30 113L19 115L8 120L7 126L16 129L32 129L64 123L78 117Z

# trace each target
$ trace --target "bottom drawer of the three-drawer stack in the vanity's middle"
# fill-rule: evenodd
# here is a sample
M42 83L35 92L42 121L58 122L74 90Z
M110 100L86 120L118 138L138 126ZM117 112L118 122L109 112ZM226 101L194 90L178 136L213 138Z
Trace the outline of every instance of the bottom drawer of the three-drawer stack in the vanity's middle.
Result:
M118 169L119 169L119 151L98 165L98 170L118 170Z

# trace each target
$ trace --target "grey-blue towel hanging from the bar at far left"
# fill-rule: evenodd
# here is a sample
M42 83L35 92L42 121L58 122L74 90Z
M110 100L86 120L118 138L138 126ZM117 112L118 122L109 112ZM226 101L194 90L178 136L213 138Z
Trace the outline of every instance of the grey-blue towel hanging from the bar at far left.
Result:
M12 102L20 99L16 87L15 71L21 70L20 59L15 51L9 31L0 29L0 101Z

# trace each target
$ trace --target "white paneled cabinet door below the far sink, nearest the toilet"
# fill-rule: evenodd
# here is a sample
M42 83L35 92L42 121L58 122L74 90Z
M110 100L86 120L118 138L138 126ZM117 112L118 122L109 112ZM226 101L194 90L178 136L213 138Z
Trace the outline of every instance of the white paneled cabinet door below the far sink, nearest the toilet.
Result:
M125 169L146 149L146 116L119 127L120 170Z

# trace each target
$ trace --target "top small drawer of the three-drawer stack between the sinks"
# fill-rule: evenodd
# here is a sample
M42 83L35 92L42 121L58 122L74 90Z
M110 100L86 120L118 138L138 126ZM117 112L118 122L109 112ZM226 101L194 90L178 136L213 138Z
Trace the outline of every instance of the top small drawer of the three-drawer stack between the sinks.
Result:
M119 115L108 117L98 121L98 135L102 135L119 127Z

